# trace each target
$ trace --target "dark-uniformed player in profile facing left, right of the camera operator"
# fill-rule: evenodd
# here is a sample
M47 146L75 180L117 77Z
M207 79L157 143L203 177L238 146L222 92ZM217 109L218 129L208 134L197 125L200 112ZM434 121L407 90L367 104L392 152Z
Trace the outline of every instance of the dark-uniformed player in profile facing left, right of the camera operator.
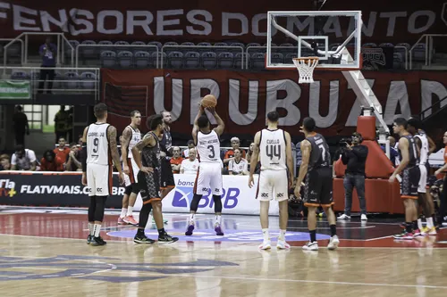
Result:
M420 171L417 166L417 145L413 136L407 131L407 120L398 118L394 120L392 130L401 136L399 139L399 155L401 163L394 169L389 178L390 183L394 183L397 175L402 173L401 198L405 206L405 229L400 235L394 235L395 239L414 238L413 229L417 229L417 185L419 183Z

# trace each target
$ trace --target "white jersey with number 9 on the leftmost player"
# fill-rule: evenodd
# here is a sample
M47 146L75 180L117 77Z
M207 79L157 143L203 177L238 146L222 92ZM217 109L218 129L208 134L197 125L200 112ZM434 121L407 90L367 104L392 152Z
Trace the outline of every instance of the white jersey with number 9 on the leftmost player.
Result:
M107 123L90 124L87 130L87 163L109 165L109 141Z

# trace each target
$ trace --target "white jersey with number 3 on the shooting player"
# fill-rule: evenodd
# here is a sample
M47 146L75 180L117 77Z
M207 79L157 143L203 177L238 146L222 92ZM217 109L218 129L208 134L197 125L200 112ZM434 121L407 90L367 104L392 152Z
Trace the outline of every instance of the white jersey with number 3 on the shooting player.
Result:
M221 142L215 130L209 133L198 131L197 152L200 162L219 162L221 159Z

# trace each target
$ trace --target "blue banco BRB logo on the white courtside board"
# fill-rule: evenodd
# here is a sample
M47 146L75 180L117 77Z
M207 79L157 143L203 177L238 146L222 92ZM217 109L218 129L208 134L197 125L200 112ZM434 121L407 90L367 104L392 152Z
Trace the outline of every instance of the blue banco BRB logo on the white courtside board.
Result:
M173 194L173 207L185 207L190 208L190 202L193 197L194 182L182 181L179 179L175 186L175 192ZM223 189L221 194L222 204L224 209L233 209L238 205L238 197L240 190L237 187L229 187ZM200 202L198 202L199 208L213 208L215 202L213 201L213 195L211 190L208 189L208 194L203 195Z

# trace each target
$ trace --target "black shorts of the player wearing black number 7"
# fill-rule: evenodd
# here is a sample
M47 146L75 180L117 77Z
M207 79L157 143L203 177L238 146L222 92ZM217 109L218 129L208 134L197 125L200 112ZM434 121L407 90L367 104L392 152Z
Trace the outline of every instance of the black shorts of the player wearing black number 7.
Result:
M310 169L304 186L304 205L333 205L333 171L330 168Z

